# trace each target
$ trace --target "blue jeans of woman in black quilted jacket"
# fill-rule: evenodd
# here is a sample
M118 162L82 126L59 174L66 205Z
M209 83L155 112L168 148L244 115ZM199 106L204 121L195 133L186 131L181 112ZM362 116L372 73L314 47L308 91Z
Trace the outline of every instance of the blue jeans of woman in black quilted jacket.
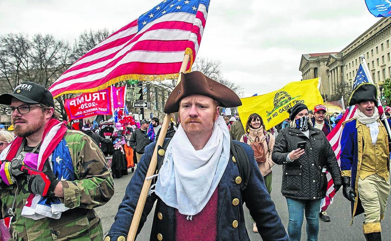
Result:
M301 226L304 213L307 220L307 241L317 241L319 232L319 209L321 199L300 200L287 198L289 224L288 235L290 241L300 241Z

